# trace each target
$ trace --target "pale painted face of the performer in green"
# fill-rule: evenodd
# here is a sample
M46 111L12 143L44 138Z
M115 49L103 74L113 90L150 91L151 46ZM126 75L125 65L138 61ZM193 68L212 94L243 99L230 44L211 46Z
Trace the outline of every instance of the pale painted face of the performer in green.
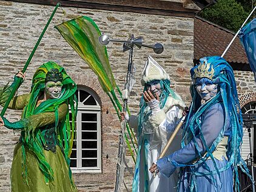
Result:
M62 83L60 81L49 81L45 84L44 93L46 99L56 99L61 95Z

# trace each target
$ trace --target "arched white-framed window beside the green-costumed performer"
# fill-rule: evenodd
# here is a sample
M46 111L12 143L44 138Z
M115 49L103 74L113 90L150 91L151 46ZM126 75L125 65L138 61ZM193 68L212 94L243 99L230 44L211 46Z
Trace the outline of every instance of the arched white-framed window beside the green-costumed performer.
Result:
M101 172L101 103L92 89L78 86L78 114L70 167L73 172Z

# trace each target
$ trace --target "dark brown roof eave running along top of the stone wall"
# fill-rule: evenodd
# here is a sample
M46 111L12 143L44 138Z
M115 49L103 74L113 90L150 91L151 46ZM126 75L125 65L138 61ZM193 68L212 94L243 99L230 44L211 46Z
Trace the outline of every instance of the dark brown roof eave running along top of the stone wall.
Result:
M209 5L214 0L13 0L17 2L28 2L33 4L56 5L60 2L62 6L90 8L99 10L110 10L116 12L133 12L153 15L181 16L194 18L195 13ZM194 2L195 1L195 2ZM202 4L197 5L198 1Z

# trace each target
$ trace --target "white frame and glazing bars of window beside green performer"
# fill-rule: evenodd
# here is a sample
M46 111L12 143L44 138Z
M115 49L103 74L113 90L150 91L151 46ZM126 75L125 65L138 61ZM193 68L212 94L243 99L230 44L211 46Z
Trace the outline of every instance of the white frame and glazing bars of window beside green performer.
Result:
M83 102L79 102L79 91L83 90L92 96L95 101L96 105L84 105ZM76 117L76 167L71 167L72 173L102 173L101 170L101 106L99 105L100 100L98 95L87 87L78 86L78 114ZM91 113L96 114L97 116L97 130L91 132L97 132L97 139L83 139L82 140L82 114L83 113ZM95 122L95 121L83 121L83 122ZM90 131L87 131L90 132ZM83 157L82 158L82 141L96 141L97 142L97 157ZM86 149L86 148L83 148ZM88 148L89 150L93 150ZM75 159L75 158L70 158ZM97 166L96 167L82 167L82 159L97 159Z

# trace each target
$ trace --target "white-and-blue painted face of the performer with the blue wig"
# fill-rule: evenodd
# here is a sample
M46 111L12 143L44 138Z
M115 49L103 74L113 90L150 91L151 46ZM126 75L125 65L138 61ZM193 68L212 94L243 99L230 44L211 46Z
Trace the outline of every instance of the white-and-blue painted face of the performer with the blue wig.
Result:
M195 88L197 93L201 96L201 99L208 101L209 99L212 99L214 96L216 96L218 85L212 84L209 79L204 81L205 79L207 78L203 78L197 81Z

